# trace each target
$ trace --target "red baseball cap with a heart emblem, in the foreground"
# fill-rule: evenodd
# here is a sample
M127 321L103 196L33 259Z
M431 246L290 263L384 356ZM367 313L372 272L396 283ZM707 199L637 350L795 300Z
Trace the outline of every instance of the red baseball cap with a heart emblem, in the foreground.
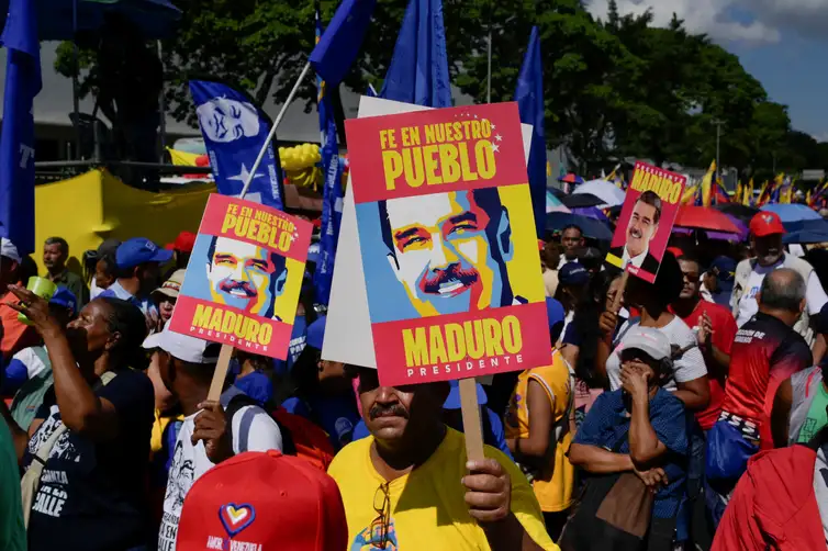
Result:
M334 479L277 450L240 453L190 488L177 551L232 549L342 551L348 524Z

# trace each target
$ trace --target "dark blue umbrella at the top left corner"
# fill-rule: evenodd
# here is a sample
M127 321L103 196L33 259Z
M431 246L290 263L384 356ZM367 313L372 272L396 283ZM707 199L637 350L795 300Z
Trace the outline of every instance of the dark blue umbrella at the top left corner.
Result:
M37 34L41 41L70 41L77 31L97 31L108 13L132 22L147 40L165 38L175 31L181 10L169 0L32 0L37 5ZM5 26L9 0L0 0ZM77 16L77 26L75 25Z

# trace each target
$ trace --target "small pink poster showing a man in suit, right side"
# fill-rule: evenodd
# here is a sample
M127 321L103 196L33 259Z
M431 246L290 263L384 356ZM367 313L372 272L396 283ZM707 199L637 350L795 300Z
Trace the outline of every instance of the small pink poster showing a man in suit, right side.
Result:
M656 281L686 183L681 175L636 162L606 261Z

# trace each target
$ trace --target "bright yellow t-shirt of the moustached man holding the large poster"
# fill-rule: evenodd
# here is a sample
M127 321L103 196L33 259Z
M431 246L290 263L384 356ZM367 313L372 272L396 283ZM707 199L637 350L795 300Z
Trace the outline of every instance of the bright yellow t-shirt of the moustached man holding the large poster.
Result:
M428 460L411 473L389 483L391 518L385 527L374 509L381 507L385 480L371 462L373 437L351 442L339 451L328 468L336 480L348 519L348 551L377 551L372 530L387 530L385 551L489 550L483 529L469 515L460 480L466 471L466 438L448 429L446 438ZM542 549L560 551L546 532L538 502L526 477L500 450L485 447L485 456L496 459L512 479L512 513Z

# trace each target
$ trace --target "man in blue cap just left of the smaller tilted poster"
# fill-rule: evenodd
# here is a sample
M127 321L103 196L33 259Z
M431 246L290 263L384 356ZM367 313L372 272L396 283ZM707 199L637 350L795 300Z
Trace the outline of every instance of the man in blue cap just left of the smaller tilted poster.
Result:
M145 237L125 240L115 251L118 279L100 296L132 302L144 313L149 333L160 330L160 315L150 293L158 286L160 266L171 259L171 250L163 249Z

